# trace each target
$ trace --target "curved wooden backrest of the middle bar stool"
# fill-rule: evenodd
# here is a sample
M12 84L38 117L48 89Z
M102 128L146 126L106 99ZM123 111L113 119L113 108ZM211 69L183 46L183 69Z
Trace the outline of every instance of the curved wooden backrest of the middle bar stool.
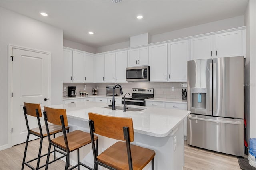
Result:
M60 115L63 115L65 124L64 126L68 126L66 109L56 109L44 106L44 111L47 113L48 122L61 126Z

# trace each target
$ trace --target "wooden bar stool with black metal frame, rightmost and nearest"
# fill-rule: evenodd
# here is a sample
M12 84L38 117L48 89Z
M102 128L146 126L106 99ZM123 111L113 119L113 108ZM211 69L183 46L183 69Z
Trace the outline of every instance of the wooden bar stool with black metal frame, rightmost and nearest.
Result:
M132 118L89 113L89 119L94 170L98 165L110 170L142 170L150 161L154 170L154 150L130 144L134 141ZM94 147L94 133L126 142L116 142L98 155Z

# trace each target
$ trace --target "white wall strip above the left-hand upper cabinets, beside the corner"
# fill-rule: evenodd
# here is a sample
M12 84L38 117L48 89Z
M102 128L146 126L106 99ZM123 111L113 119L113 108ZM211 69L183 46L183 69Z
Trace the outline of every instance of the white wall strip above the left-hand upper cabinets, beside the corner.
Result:
M70 47L74 49L79 49L81 51L86 51L89 53L96 53L96 48L94 47L89 47L88 45L80 44L77 42L72 42L70 40L63 39L63 46L64 47Z

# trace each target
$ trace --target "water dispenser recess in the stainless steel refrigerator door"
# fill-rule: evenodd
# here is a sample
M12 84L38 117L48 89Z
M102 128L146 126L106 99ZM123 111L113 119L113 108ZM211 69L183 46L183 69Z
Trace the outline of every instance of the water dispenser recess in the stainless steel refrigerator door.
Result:
M191 88L192 107L206 109L206 88Z

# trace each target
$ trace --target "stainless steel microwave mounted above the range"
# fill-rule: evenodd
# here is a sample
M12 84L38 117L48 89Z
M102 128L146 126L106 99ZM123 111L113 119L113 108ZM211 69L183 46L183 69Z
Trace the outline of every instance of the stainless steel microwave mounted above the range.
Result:
M126 68L126 81L149 81L149 66Z

